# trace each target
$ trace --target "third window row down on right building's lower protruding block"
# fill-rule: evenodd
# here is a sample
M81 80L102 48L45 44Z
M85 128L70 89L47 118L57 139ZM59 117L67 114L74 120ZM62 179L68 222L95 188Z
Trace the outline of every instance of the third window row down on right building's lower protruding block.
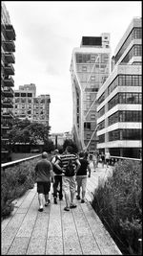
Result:
M108 118L109 126L118 122L141 122L142 113L136 110L117 111ZM102 123L102 122L101 122ZM99 124L101 127L101 123Z

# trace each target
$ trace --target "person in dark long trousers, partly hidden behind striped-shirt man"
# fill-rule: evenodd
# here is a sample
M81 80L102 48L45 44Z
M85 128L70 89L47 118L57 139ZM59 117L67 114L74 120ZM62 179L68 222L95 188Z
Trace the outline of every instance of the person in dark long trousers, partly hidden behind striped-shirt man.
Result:
M59 199L62 200L63 194L62 194L62 172L57 169L57 167L54 165L56 160L59 157L59 151L55 150L54 151L54 156L51 159L51 164L53 168L53 173L54 173L54 183L53 183L53 201L55 204L57 204L57 192L59 192ZM60 165L61 167L61 165ZM59 191L57 188L59 187Z

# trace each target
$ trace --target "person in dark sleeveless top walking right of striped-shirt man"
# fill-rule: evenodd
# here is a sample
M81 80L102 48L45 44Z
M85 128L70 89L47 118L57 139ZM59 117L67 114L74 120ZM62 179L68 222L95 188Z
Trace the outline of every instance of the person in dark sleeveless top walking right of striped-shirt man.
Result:
M85 195L86 195L86 187L87 187L87 171L89 171L89 177L91 177L91 167L90 167L90 162L87 159L85 159L84 152L79 153L79 162L81 166L76 173L76 182L77 182L76 198L80 200L80 189L82 188L81 203L84 203Z

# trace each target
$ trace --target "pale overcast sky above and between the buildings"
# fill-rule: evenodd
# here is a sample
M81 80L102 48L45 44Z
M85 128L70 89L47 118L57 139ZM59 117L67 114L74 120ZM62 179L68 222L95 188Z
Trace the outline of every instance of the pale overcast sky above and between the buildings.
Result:
M111 34L112 55L141 1L3 1L16 33L14 89L51 95L51 132L72 130L72 50L82 36Z

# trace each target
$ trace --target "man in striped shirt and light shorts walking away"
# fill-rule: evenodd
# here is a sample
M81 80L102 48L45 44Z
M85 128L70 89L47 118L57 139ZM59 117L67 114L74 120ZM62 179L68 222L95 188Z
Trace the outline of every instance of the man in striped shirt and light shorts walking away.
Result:
M60 167L59 164L62 164ZM68 146L66 151L59 156L59 159L55 162L55 166L61 170L63 173L62 181L63 181L63 191L65 194L66 207L64 207L65 211L70 211L70 208L75 208L76 204L74 204L74 195L76 188L75 174L77 173L80 162L78 157L72 153L72 147ZM71 193L71 199L69 198L69 190Z

